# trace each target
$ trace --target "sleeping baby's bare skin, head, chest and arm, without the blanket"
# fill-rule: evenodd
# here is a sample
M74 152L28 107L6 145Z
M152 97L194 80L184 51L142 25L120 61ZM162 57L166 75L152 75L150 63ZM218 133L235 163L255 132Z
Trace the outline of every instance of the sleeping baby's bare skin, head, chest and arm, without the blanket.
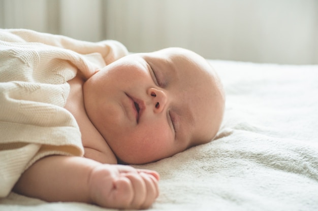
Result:
M65 109L78 123L84 156L36 161L15 184L17 193L147 208L159 193L158 173L117 163L153 162L207 143L224 113L214 69L181 48L124 56L89 78L78 72L68 83Z

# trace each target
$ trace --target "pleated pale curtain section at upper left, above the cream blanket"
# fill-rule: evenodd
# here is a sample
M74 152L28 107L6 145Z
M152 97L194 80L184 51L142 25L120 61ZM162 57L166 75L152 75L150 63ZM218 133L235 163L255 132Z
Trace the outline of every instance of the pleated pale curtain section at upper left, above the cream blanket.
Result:
M100 0L0 0L0 27L100 41L105 39L103 5Z

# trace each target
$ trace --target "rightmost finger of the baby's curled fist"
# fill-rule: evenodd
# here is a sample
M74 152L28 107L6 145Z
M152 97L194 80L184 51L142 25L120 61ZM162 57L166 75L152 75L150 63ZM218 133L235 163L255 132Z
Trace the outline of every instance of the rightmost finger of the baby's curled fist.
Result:
M146 198L143 205L140 208L146 209L151 206L151 204L159 195L158 181L151 174L141 172L140 175L143 178L144 183L146 185Z

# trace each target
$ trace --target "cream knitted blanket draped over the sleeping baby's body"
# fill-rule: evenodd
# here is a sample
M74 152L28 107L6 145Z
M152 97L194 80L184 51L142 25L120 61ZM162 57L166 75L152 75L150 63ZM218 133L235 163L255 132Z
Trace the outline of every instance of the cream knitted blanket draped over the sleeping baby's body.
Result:
M116 41L89 43L25 29L0 29L0 197L48 155L83 155L75 118L64 109L78 71L89 78L126 55Z

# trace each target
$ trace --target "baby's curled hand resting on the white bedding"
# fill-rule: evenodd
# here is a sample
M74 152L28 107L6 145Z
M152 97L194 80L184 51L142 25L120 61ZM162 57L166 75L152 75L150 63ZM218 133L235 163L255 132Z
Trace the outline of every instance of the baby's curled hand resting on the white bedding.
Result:
M158 180L155 171L103 164L90 174L90 198L103 207L145 209L159 195Z

